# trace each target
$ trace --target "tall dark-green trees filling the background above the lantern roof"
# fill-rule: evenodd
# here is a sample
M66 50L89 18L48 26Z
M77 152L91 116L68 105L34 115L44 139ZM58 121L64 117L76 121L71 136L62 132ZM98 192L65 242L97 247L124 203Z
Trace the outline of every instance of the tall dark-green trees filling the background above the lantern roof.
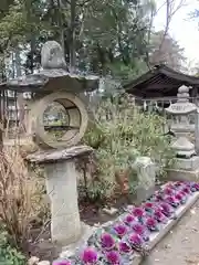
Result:
M134 78L154 62L179 68L185 60L182 51L172 38L155 32L156 11L154 0L3 0L1 78L38 68L40 49L46 40L62 44L71 70L78 67L119 81ZM157 54L164 39L164 49Z

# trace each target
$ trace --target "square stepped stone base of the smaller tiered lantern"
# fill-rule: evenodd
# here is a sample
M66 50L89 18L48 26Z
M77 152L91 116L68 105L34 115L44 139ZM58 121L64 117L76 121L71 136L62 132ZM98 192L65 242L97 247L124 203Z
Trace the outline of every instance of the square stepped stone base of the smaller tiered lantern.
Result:
M168 169L169 180L199 181L199 157L177 158L174 169Z

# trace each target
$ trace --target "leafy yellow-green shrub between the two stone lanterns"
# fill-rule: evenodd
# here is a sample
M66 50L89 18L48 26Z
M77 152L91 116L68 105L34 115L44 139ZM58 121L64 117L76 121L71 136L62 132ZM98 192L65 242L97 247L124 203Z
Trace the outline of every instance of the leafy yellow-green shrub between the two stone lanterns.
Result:
M114 183L115 172L130 168L138 156L150 157L159 166L160 177L174 165L169 136L164 136L164 117L143 113L126 94L103 99L94 113L96 123L84 142L96 150L103 181Z

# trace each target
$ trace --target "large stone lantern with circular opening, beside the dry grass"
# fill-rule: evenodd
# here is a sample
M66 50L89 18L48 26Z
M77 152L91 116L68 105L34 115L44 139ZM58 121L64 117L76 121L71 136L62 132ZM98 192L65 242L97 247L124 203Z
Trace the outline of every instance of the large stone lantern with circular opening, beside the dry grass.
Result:
M67 245L76 242L82 232L76 187L80 176L75 162L93 151L91 147L80 145L88 123L87 107L80 95L96 89L98 77L70 74L62 47L55 41L43 45L41 63L43 70L40 73L11 80L3 88L32 95L27 100L19 97L20 104L30 109L27 117L22 115L27 120L27 134L39 147L39 151L29 155L27 160L44 168L51 200L52 241ZM64 132L57 138L49 134L48 129L53 126L46 124L44 117L49 106L55 103L66 113L64 126L60 125Z

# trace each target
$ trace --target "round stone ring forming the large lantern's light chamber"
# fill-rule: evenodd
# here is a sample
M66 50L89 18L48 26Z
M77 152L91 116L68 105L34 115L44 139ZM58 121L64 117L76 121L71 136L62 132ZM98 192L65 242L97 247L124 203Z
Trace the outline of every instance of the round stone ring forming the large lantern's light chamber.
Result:
M64 135L55 139L45 131L43 115L52 103L60 103L69 116ZM30 113L30 134L34 135L34 142L42 148L66 148L77 145L84 136L88 115L84 103L74 94L57 92L49 94L33 104Z

